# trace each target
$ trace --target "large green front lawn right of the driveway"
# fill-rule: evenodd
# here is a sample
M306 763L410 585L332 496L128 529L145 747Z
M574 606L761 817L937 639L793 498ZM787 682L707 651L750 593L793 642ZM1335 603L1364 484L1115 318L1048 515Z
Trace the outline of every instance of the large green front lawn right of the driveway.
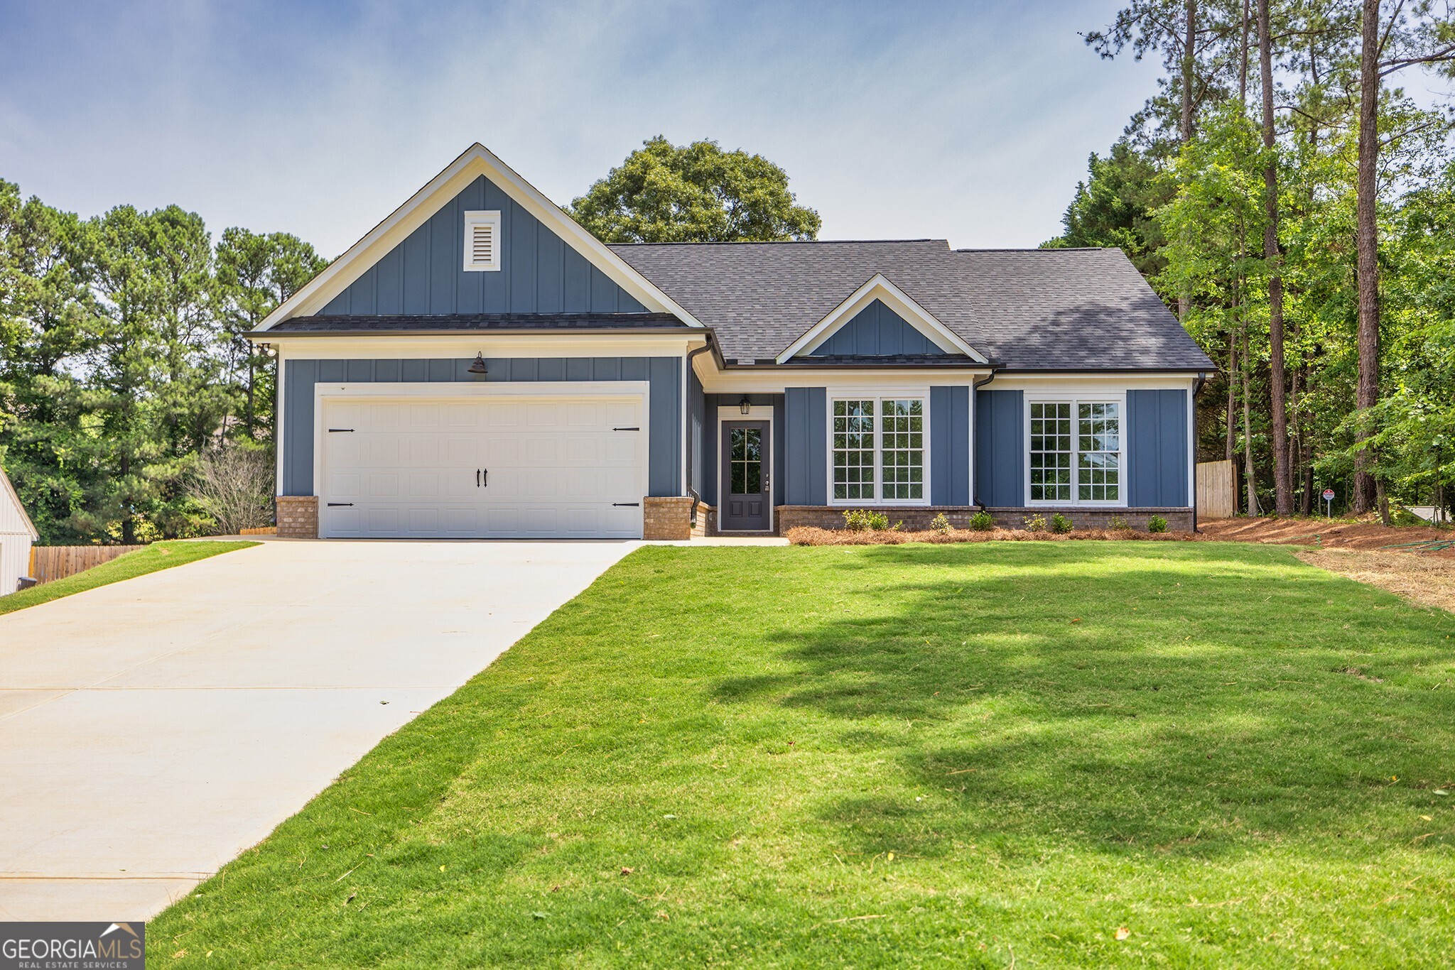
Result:
M148 957L1449 966L1452 636L1273 545L643 548Z

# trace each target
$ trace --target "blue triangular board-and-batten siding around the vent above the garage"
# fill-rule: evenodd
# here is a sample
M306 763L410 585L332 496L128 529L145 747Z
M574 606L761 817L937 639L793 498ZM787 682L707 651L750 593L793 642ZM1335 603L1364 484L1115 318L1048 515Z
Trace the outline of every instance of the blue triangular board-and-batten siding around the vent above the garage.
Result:
M466 272L464 214L501 212L501 269ZM550 227L480 176L322 310L324 314L645 313Z

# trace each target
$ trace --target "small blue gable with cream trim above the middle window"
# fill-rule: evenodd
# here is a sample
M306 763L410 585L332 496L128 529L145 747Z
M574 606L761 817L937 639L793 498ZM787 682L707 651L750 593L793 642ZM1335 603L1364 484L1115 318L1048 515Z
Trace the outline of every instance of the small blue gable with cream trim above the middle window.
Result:
M915 302L899 286L874 273L826 317L778 355L778 364L815 356L963 355L985 364L975 348Z

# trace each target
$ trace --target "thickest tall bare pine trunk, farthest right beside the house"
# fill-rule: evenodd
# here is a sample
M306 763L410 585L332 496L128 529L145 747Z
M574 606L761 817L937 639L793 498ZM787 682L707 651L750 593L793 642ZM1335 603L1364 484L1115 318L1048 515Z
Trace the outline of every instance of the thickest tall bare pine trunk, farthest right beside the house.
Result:
M1360 412L1379 400L1379 225L1375 205L1379 166L1379 0L1363 0L1363 39L1359 52L1359 173L1356 180L1359 247L1359 387ZM1371 429L1360 422L1355 441L1363 444ZM1360 448L1355 458L1355 513L1374 508L1372 455Z

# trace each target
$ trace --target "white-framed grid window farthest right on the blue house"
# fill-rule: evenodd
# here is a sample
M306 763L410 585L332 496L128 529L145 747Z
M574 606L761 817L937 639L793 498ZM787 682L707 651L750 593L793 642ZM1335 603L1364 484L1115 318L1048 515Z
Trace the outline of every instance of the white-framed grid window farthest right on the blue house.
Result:
M1120 400L1029 403L1030 505L1126 505Z

